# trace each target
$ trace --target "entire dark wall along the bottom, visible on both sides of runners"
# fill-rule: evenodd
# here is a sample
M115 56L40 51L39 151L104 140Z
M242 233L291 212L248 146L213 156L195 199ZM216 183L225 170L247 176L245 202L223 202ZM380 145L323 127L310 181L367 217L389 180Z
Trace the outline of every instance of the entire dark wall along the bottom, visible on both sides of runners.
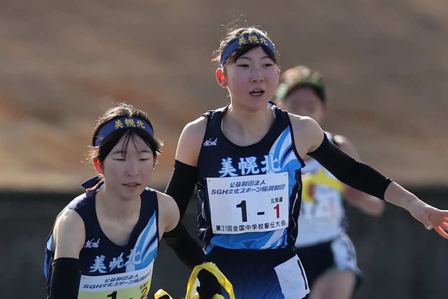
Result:
M448 209L448 189L414 189L422 199ZM75 194L0 194L0 298L45 298L44 243L59 211ZM184 222L196 235L195 200ZM387 204L379 218L347 207L348 231L364 274L353 299L446 299L448 240L428 232L405 210ZM190 271L164 241L155 262L149 298L164 289L185 296Z

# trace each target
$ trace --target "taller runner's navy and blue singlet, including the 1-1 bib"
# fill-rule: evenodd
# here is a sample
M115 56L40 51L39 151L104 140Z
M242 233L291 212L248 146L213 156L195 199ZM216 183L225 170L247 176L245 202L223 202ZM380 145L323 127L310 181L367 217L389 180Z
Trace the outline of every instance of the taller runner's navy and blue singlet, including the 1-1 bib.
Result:
M228 105L209 111L198 158L199 237L215 247L275 249L295 244L303 159L287 112L269 103L275 120L263 139L240 147L223 134Z

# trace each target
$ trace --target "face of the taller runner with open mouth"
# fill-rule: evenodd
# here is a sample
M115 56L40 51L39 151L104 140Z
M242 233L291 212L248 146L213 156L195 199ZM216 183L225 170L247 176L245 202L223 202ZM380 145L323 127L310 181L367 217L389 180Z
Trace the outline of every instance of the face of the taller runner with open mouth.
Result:
M230 92L232 106L259 109L266 106L277 87L279 69L261 46L228 64L225 83Z

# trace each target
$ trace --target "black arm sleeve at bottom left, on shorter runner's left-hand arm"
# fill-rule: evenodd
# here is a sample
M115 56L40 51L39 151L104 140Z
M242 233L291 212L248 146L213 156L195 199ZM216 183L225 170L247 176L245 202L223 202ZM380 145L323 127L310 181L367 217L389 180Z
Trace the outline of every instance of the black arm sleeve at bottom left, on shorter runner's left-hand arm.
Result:
M81 274L79 260L59 258L52 263L50 299L77 299Z

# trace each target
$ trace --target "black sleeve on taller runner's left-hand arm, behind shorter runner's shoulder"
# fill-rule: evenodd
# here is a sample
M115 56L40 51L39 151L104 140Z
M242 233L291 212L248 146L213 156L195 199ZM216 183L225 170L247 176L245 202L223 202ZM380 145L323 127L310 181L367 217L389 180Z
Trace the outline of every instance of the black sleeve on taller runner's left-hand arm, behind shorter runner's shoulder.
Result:
M198 181L198 167L191 166L181 161L174 161L174 170L165 193L174 198L179 207L180 221L184 218L188 203ZM180 222L179 221L179 222Z

